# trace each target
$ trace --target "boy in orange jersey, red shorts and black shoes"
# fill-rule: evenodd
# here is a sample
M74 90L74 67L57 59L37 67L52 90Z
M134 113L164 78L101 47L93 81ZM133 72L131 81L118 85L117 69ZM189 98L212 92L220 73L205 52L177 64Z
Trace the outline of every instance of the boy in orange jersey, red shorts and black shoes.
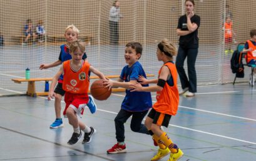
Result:
M64 117L68 117L69 124L73 126L74 133L68 141L69 145L74 145L81 138L81 130L84 132L83 144L91 141L91 135L96 130L93 127L84 125L78 120L77 115L83 115L84 107L88 103L88 89L90 85L89 72L93 72L100 79L105 79L105 76L90 66L87 61L84 61L83 54L85 45L81 41L73 41L69 46L69 52L72 56L71 60L64 61L57 74L53 77L53 82L49 90L48 100L51 100L55 95L54 87L58 82L59 76L63 74L63 90L65 90L64 101L66 107L64 109ZM77 114L77 115L76 115Z

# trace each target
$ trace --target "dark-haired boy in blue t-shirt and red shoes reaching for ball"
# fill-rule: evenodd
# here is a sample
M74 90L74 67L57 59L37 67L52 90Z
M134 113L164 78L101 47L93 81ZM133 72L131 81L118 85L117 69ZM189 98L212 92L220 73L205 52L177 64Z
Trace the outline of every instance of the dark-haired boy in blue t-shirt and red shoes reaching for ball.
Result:
M129 42L125 46L125 62L128 64L123 67L120 78L115 80L105 80L106 87L123 87L126 89L125 99L121 104L121 110L115 118L116 140L108 154L118 154L126 152L125 146L125 122L132 115L131 130L142 134L149 134L144 124L141 124L143 118L152 107L150 92L130 92L129 86L138 82L139 76L146 77L145 71L138 59L142 53L142 46L139 42ZM148 84L143 85L145 87Z

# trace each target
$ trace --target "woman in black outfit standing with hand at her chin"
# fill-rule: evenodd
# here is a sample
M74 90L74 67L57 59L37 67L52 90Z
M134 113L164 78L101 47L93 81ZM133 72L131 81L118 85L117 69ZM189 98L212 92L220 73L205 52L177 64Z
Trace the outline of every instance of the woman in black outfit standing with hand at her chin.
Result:
M198 27L200 26L200 16L193 11L195 2L185 1L186 14L178 19L177 34L180 36L176 67L182 91L180 95L187 92L187 97L195 96L197 92L197 73L195 71L195 61L198 53ZM188 77L184 70L184 61L187 57Z

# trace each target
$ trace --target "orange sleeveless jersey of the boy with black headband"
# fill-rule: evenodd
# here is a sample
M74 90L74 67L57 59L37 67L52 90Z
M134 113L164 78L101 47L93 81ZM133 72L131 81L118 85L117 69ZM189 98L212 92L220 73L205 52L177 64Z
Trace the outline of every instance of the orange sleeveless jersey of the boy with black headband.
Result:
M173 77L174 85L171 87L170 85L168 85L168 83L166 81L163 89L161 91L156 92L156 100L157 101L153 105L153 109L155 109L157 112L161 112L163 114L175 115L175 114L177 114L178 101L180 98L178 95L177 69L175 67L175 64L173 64L172 62L167 62L163 66L167 66L170 69L170 72ZM158 77L159 77L160 73L161 73L161 69L158 72Z

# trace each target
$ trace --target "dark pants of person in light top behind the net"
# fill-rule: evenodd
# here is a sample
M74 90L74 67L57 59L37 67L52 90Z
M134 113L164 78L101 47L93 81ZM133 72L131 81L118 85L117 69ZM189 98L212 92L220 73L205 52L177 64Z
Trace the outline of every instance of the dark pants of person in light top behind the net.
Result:
M118 22L110 21L110 44L118 45L119 41L119 25Z

